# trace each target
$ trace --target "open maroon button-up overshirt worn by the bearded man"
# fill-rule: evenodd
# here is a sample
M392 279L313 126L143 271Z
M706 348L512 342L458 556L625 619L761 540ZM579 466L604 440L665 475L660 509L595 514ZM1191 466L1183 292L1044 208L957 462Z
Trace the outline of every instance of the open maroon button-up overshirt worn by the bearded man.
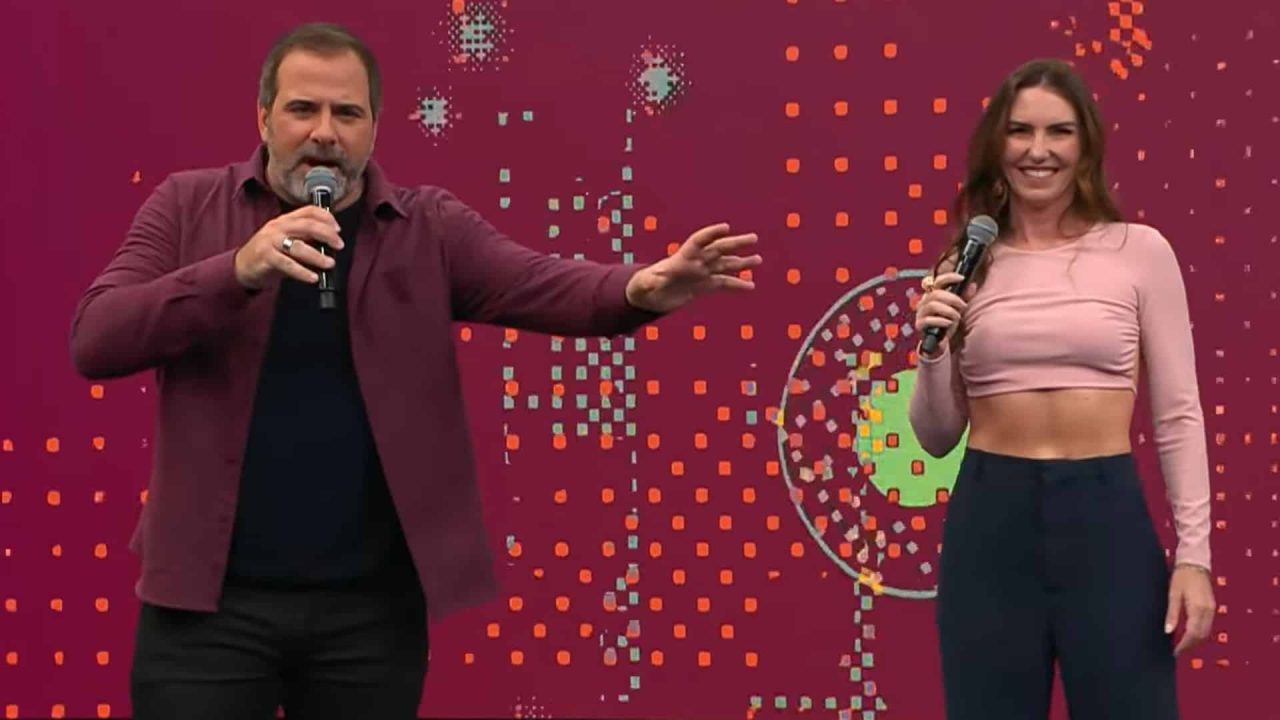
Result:
M241 465L279 281L246 291L234 254L280 214L265 149L179 172L138 210L81 299L72 357L87 378L155 368L159 414L148 498L129 547L138 597L215 610ZM497 589L481 527L451 323L563 336L628 333L636 266L538 254L438 187L366 170L366 215L348 281L351 350L387 483L435 618ZM307 421L300 418L300 421Z

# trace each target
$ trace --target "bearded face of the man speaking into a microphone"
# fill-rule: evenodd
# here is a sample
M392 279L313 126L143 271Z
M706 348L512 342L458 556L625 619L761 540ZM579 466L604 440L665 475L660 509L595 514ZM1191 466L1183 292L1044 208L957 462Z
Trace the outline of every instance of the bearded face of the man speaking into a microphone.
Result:
M257 129L268 149L266 179L276 195L296 205L310 202L307 170L325 165L338 178L334 205L351 205L364 190L378 135L364 63L349 50L289 53L276 72L275 102L257 109Z

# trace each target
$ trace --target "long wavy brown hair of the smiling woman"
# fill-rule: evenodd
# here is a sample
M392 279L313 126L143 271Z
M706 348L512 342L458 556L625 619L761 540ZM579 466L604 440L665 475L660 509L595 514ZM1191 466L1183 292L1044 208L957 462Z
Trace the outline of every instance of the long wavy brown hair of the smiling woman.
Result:
M1028 87L1043 87L1066 100L1075 110L1079 122L1080 161L1075 168L1075 193L1069 214L1091 225L1120 220L1120 211L1107 190L1102 168L1106 140L1102 115L1093 101L1093 95L1070 64L1056 59L1032 60L1005 78L969 137L968 177L956 195L952 209L955 236L934 264L934 274L938 274L948 260L959 256L966 241L965 225L970 218L980 214L991 215L1001 232L1011 227L1011 199L1004 169L1005 138L1009 135L1009 113L1014 99L1019 91ZM989 265L991 252L987 252L970 281L982 286ZM961 331L963 328L957 329L956 338L963 336Z

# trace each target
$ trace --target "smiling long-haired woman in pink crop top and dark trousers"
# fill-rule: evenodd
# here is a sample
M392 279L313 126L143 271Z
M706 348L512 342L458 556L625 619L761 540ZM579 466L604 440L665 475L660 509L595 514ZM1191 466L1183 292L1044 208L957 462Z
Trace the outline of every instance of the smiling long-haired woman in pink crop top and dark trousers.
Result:
M964 297L957 233L916 307L943 328L910 421L931 455L969 430L947 511L937 623L948 720L1178 716L1174 656L1208 635L1210 488L1187 299L1169 242L1120 222L1102 122L1066 63L992 97L956 217L1001 228ZM1139 366L1178 532L1170 571L1130 455ZM1185 619L1176 648L1175 626Z

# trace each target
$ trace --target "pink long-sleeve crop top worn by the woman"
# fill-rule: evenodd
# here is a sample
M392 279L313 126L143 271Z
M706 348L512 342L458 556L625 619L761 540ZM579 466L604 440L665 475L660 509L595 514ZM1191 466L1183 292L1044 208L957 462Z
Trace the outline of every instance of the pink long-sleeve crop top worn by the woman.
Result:
M961 350L920 356L910 423L943 455L966 398L1056 388L1138 391L1147 368L1156 450L1178 533L1175 561L1210 568L1210 486L1187 293L1169 241L1148 225L1101 223L1051 250L992 245L964 314Z

